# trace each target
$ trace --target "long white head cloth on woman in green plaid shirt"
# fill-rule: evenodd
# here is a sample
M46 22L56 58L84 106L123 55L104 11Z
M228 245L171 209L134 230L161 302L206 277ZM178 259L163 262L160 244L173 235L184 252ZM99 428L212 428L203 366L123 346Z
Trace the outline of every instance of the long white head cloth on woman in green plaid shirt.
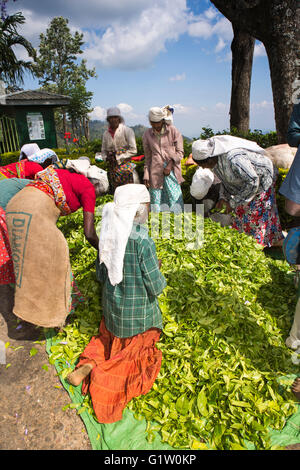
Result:
M99 237L100 264L107 267L110 283L115 286L123 279L125 249L140 204L150 202L143 184L117 187L114 202L105 204Z

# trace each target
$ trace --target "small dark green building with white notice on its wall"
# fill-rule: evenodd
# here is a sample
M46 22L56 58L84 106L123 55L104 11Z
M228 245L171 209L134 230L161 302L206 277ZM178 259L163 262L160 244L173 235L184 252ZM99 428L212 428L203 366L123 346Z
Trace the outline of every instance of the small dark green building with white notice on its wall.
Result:
M57 148L54 109L70 98L44 90L17 91L0 96L0 154L37 143Z

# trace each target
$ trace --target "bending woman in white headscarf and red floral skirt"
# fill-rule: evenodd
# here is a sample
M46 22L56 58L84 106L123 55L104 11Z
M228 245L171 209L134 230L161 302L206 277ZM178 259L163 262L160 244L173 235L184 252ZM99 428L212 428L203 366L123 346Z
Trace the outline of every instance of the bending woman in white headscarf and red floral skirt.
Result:
M233 212L232 227L264 247L281 245L283 234L275 199L277 170L256 142L230 135L196 140L193 160L221 180L217 208Z

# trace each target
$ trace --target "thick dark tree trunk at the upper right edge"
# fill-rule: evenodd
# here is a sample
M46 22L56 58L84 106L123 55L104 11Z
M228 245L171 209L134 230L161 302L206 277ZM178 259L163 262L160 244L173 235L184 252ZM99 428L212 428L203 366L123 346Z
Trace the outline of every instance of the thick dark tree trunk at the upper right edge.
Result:
M265 46L269 64L278 143L286 142L297 79L298 0L211 0L226 18ZM298 16L299 18L299 16Z

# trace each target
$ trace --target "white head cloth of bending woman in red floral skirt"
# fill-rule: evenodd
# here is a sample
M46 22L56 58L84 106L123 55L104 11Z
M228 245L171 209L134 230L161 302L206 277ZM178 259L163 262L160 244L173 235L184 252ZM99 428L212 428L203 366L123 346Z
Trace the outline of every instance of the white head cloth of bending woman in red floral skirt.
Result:
M215 135L210 139L200 139L193 142L193 160L205 160L206 158L216 157L234 149L245 149L250 152L265 154L264 149L251 140L241 139L232 135Z

